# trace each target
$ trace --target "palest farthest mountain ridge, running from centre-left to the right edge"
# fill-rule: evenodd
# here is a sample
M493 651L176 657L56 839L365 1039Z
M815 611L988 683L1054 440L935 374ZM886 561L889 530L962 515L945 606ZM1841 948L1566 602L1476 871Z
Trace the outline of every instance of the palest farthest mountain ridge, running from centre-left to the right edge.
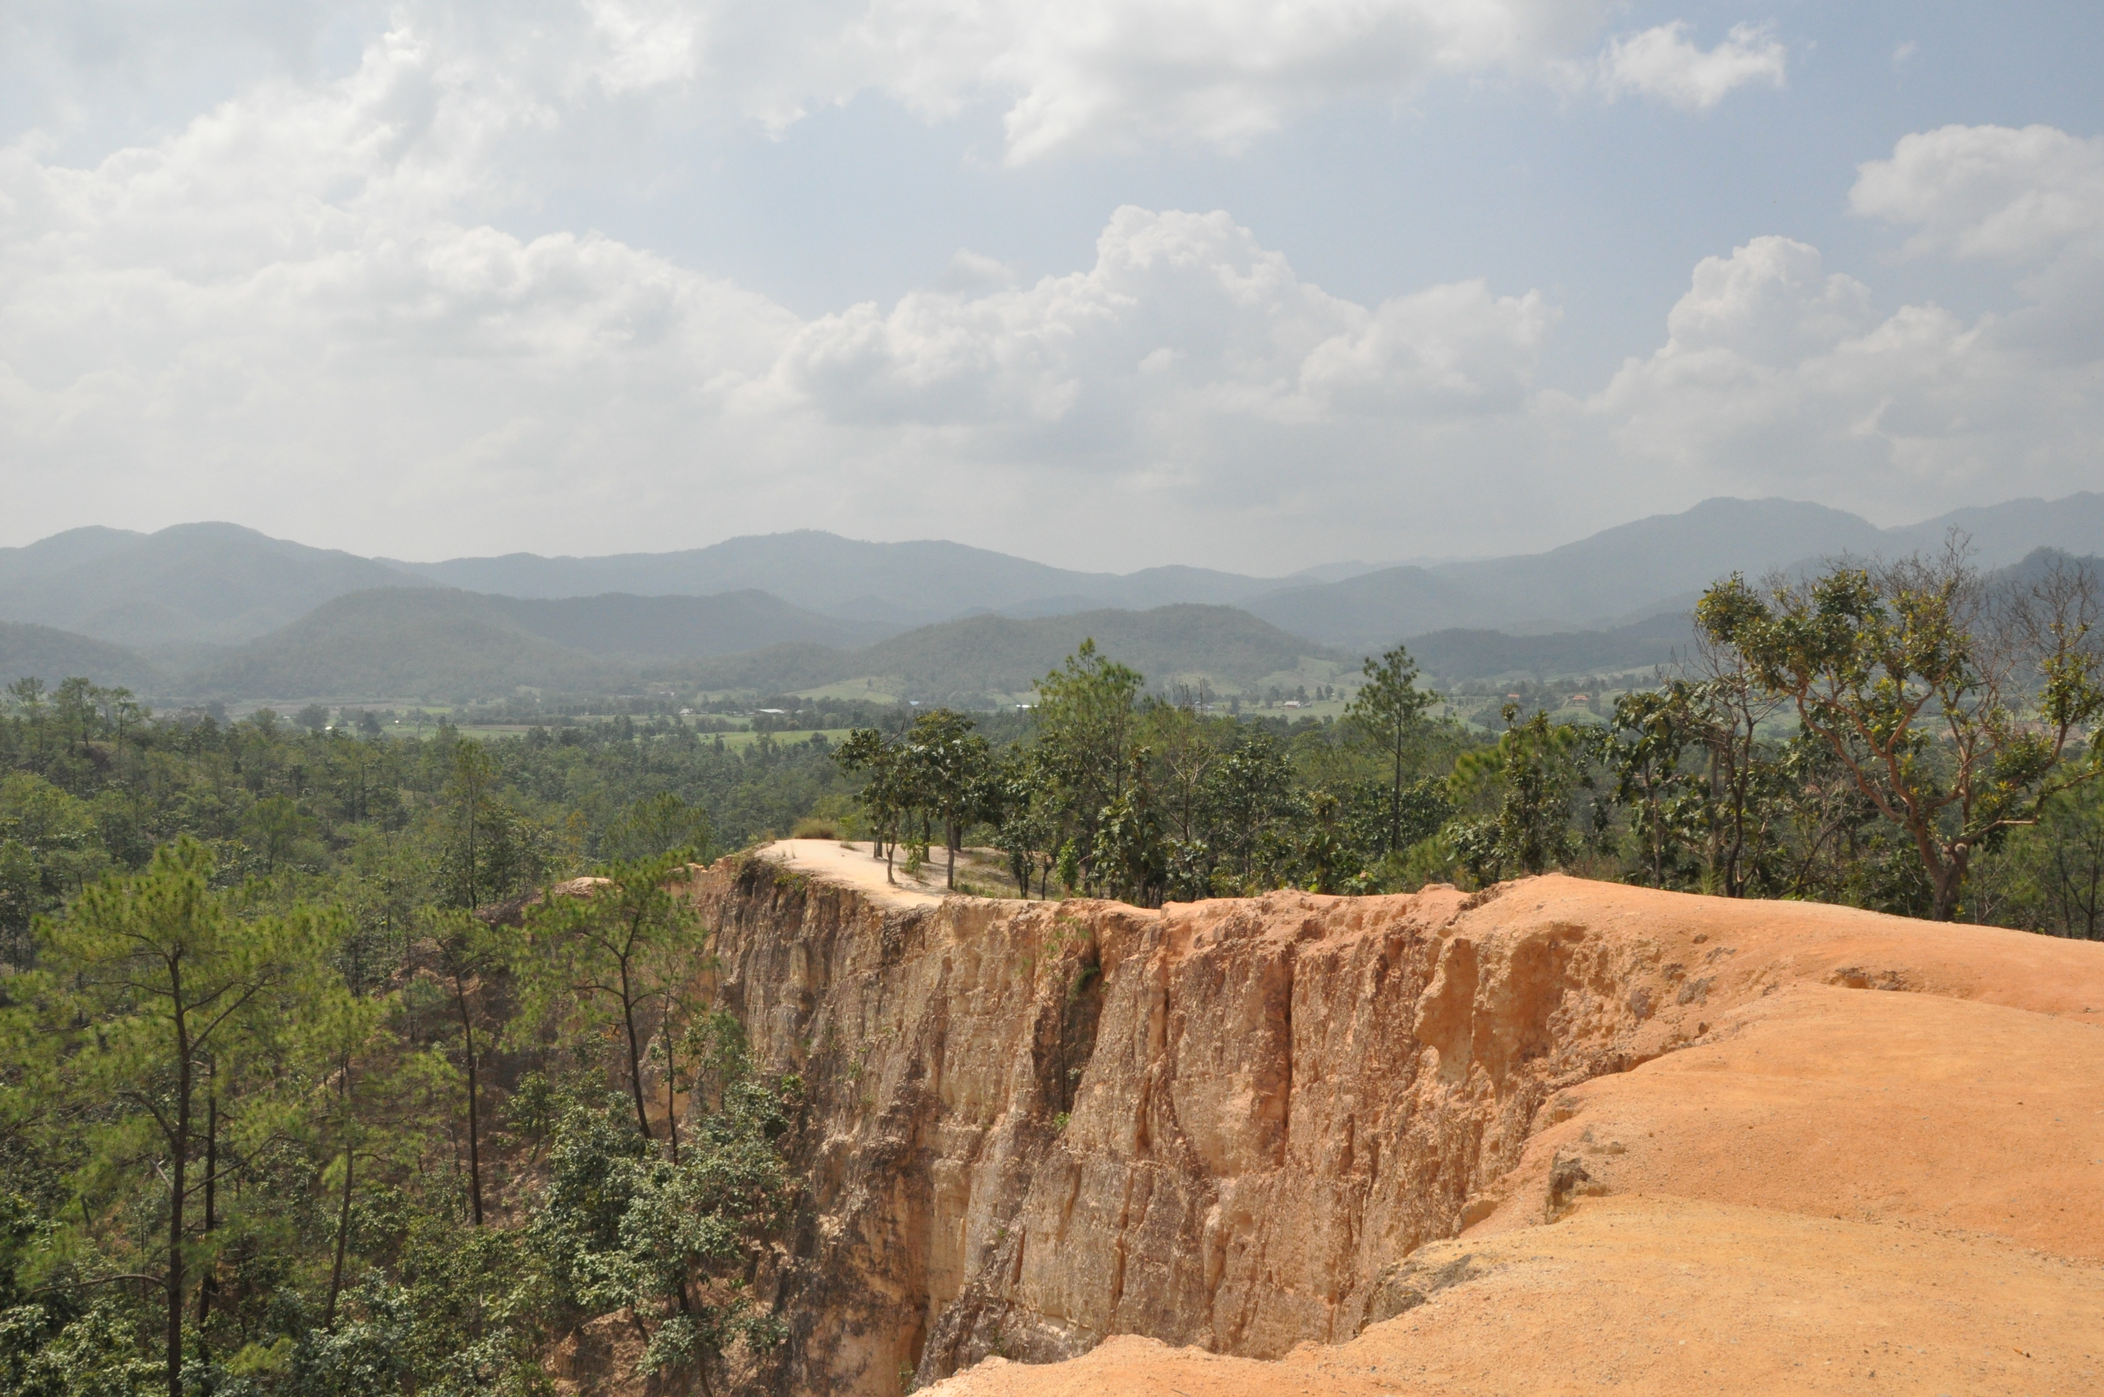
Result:
M1448 627L1612 627L1685 604L1732 570L1759 574L1833 553L1938 547L1953 524L1974 534L1980 562L1990 568L2041 545L2100 551L2104 494L1959 509L1894 530L1824 505L1713 499L1546 553L1389 568L1332 564L1292 579L1180 566L1075 572L959 543L863 543L818 530L730 539L682 553L511 553L393 566L476 591L539 598L751 587L831 616L890 625L974 612L1054 616L1199 602L1241 606L1315 640L1376 648Z

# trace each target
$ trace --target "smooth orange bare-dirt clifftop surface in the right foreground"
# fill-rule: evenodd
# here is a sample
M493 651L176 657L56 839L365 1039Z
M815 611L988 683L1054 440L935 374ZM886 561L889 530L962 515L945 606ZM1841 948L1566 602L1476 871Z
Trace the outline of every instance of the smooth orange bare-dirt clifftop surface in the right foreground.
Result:
M1563 877L1460 928L1483 917L1624 947L1656 1046L1555 1092L1357 1338L1260 1361L1113 1336L924 1391L2104 1391L2104 945Z

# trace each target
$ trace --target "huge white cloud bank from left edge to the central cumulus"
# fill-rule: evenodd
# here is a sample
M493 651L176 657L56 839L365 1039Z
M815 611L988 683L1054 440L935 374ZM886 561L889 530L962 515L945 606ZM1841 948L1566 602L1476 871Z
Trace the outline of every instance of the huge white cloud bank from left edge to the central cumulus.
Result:
M945 288L814 320L610 238L515 238L480 210L515 198L534 93L396 32L93 168L0 147L15 518L600 551L926 534L932 486L938 532L1265 566L1338 490L1384 547L1380 499L1431 505L1454 452L1528 429L1538 295L1357 305L1225 212L1124 208L1081 271L962 252Z

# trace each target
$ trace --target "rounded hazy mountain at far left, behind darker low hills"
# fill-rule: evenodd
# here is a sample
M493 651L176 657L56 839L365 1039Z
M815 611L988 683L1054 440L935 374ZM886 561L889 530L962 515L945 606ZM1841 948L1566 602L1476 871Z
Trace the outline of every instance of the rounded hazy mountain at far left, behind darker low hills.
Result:
M238 524L76 528L0 549L0 619L124 646L252 640L349 591L425 585L370 558Z

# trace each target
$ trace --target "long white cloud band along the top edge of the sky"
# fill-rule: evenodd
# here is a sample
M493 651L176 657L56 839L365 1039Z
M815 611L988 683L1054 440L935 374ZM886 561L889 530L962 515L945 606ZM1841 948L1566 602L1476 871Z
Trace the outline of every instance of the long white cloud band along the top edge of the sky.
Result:
M385 11L379 0L200 0L181 17L141 13L137 0L11 8L0 82L48 88L50 72L97 76L88 103L80 82L32 99L46 128L93 124L97 107L130 109L128 93L141 88L305 80L316 53L341 48L347 34L391 32L444 50L457 82L539 103L547 124L616 103L644 114L635 120L778 130L884 93L928 120L997 105L1012 164L1159 143L1239 149L1319 105L1405 101L1439 76L1565 82L1582 69L1607 97L1711 107L1748 82L1780 86L1786 63L1765 27L1740 25L1702 50L1685 23L1584 59L1614 0L396 0Z

